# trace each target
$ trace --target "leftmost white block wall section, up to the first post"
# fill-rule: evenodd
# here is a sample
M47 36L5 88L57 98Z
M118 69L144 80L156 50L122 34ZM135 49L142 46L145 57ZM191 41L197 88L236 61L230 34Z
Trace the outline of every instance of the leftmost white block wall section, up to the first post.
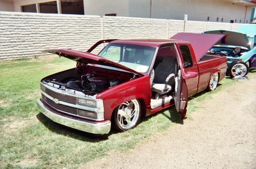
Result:
M0 12L0 59L43 56L49 48L88 49L101 39L100 25L100 16Z

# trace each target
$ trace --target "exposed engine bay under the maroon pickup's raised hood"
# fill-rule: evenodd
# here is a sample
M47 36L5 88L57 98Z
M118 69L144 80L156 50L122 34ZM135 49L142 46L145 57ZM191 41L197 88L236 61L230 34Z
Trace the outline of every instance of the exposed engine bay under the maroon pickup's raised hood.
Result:
M59 89L70 88L81 91L86 95L96 95L118 84L129 81L131 78L133 78L131 73L98 68L92 70L80 67L79 69L74 68L49 75L42 79L42 82L48 83L49 86L55 84L55 87Z

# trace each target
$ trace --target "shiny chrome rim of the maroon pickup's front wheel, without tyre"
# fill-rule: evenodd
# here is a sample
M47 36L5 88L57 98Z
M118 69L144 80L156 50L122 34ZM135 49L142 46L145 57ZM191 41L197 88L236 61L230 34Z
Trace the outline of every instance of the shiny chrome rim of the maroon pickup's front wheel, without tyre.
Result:
M141 109L138 100L134 99L119 105L117 121L123 130L133 128L139 120Z

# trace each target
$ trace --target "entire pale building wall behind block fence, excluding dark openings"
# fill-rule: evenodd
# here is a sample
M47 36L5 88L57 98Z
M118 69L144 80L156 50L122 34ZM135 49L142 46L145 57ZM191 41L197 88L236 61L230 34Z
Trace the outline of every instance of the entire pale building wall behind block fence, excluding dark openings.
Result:
M2 11L20 11L20 6L33 3L49 2L51 0L1 0L2 6L6 6ZM60 2L60 0L52 0ZM233 5L233 2L234 3ZM256 6L256 5L255 5ZM160 18L183 20L184 14L189 20L210 22L230 22L237 20L237 23L249 23L251 7L245 7L245 2L236 0L84 0L84 10L86 15L117 14L117 16L129 16L138 18ZM245 19L246 18L246 19Z

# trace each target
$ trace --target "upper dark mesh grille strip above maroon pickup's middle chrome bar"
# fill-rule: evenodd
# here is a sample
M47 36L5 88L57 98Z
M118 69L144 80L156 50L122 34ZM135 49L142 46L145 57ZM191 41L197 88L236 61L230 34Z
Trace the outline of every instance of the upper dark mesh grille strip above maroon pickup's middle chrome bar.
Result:
M60 94L55 91L49 90L48 88L44 87L42 84L41 84L41 90L46 92L46 94L48 94L49 96L52 96L52 98L58 99L62 102L71 103L71 104L76 104L77 102L76 97Z

